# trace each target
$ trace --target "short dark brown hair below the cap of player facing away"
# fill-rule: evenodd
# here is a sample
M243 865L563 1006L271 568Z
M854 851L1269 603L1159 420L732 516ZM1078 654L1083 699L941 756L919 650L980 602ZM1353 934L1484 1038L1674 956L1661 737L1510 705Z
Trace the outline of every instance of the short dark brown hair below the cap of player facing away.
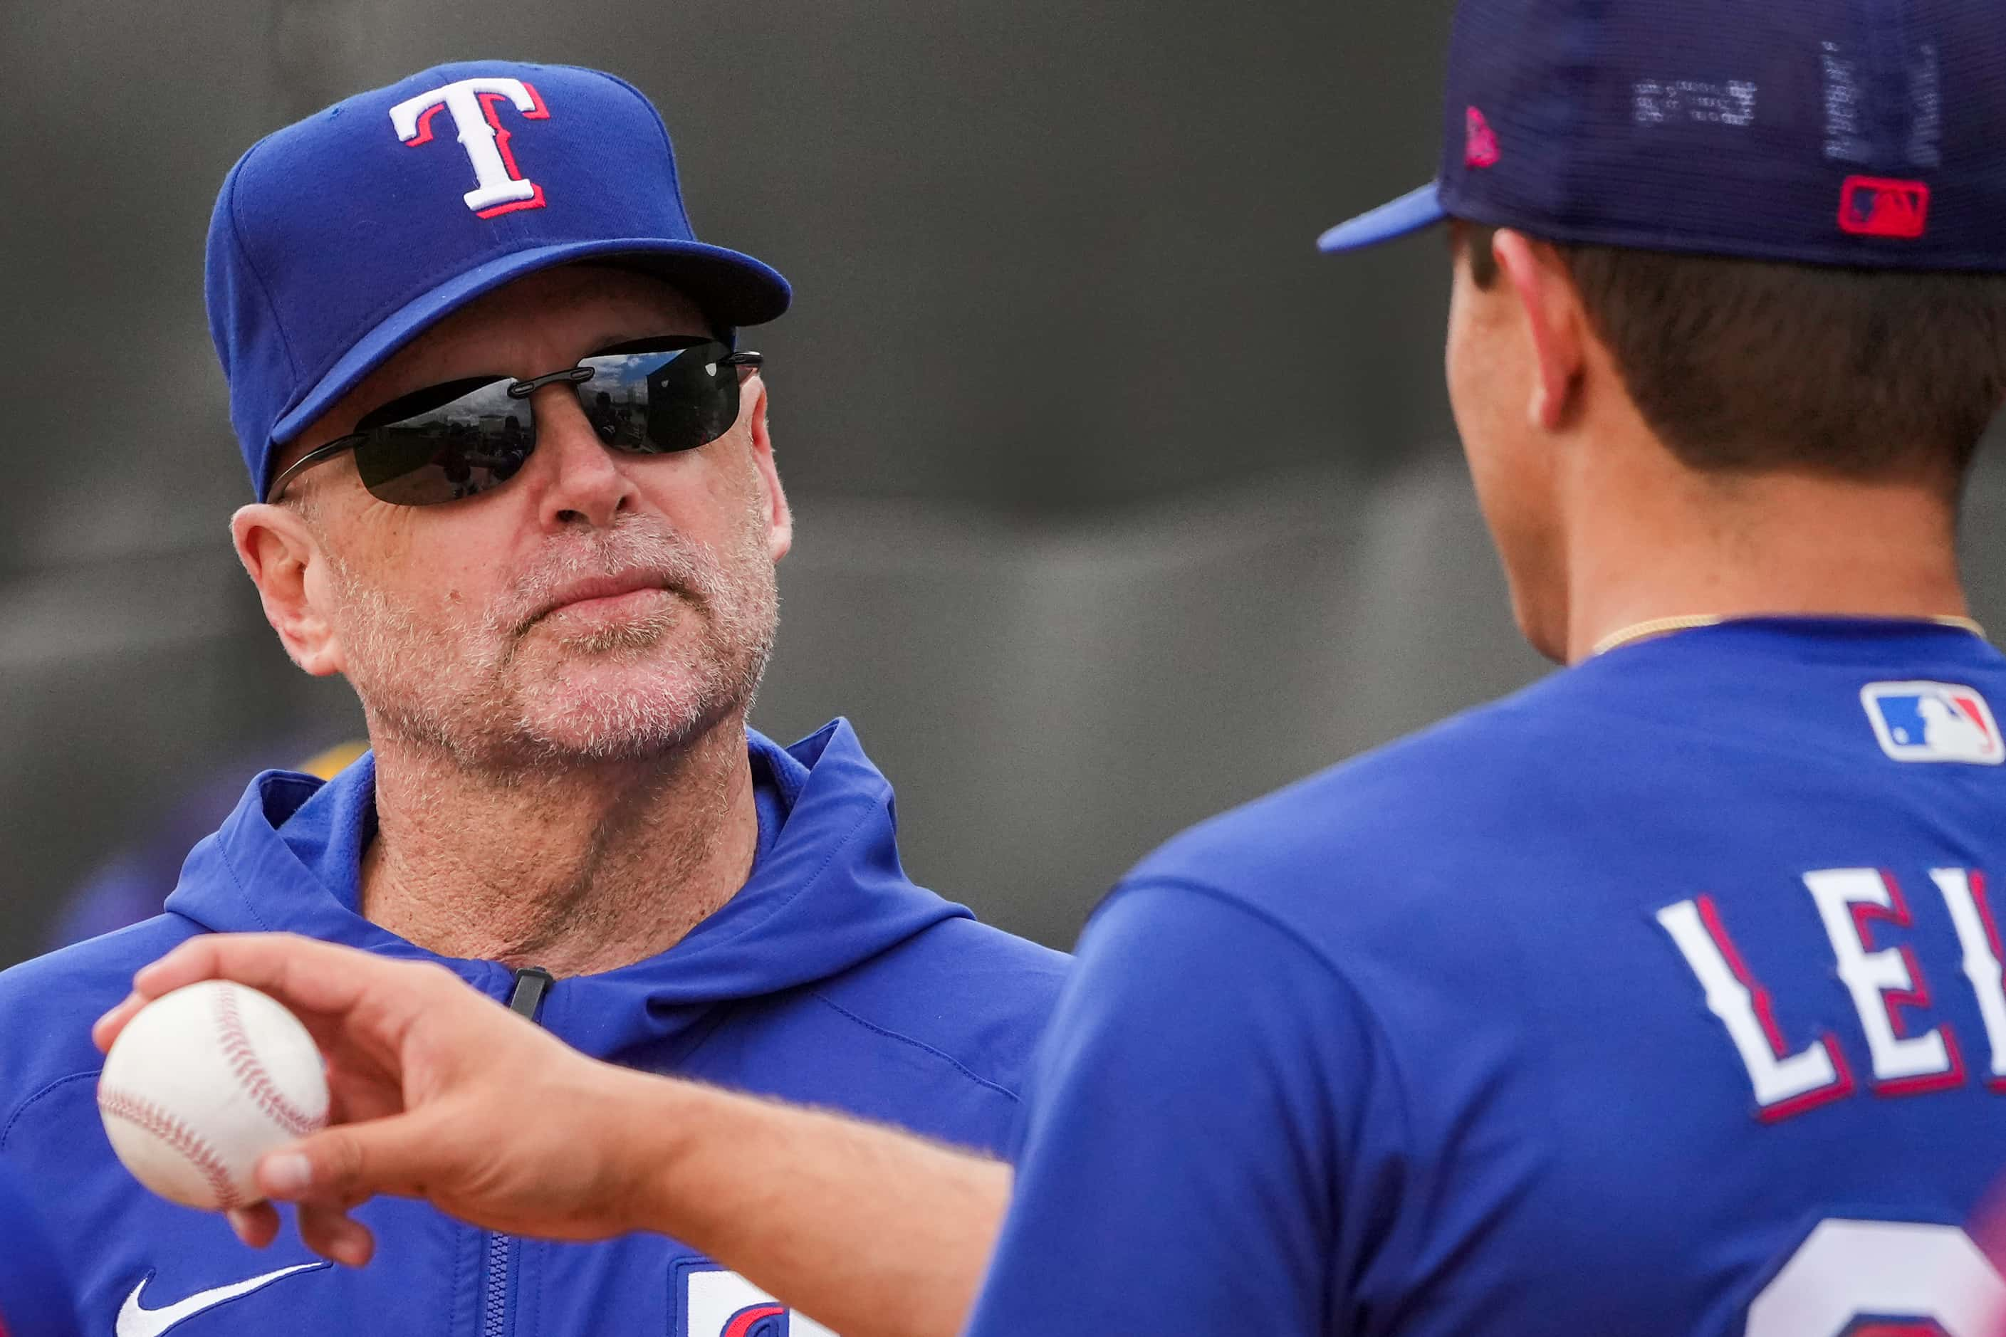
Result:
M1488 289L1496 229L1462 231ZM1645 423L1693 469L1956 491L2006 405L2006 275L1557 251Z

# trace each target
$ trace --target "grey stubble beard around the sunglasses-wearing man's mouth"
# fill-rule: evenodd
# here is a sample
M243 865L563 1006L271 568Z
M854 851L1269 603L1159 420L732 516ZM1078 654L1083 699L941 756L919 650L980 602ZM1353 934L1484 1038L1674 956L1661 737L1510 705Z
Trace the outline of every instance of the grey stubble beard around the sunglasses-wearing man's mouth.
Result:
M652 519L568 539L471 623L427 625L351 565L331 571L371 734L493 776L682 752L744 720L778 631L760 511L722 551ZM538 617L576 579L634 571L670 591L658 611L576 633Z

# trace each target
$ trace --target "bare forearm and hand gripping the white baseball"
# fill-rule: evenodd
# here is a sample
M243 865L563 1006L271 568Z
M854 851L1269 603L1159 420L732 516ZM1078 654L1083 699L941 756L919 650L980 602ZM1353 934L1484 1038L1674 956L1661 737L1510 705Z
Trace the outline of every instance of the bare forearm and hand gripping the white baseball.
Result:
M544 1239L672 1235L851 1337L959 1333L1009 1203L1011 1171L897 1129L586 1058L441 966L289 934L195 938L134 978L92 1030L197 980L259 988L327 1058L333 1125L259 1161L299 1233L361 1267L347 1213L427 1199ZM231 1213L249 1245L271 1203Z

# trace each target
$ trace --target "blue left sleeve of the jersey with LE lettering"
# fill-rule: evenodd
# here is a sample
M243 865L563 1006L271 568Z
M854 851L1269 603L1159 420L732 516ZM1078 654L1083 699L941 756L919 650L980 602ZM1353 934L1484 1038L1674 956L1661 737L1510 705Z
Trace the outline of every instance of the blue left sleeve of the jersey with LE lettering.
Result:
M1115 892L1033 1070L969 1335L1344 1331L1342 1106L1370 1034L1336 972L1254 910Z

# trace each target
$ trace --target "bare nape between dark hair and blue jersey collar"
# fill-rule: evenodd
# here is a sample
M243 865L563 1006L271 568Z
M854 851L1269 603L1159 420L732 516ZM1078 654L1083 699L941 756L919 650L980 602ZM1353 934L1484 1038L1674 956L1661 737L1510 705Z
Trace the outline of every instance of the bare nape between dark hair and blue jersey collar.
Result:
M1677 471L1573 501L1569 663L1661 617L1966 613L1956 511L1920 481Z

